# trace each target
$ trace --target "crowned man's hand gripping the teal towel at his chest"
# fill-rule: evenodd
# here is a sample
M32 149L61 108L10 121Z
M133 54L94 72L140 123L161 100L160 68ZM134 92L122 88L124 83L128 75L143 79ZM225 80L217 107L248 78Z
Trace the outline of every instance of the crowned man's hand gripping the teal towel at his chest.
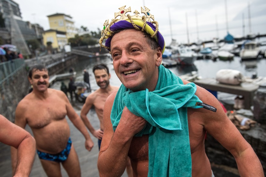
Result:
M131 113L125 106L118 126L122 126L123 129L125 129L125 134L129 133L129 136L133 137L135 134L139 133L146 124L147 121L145 119Z

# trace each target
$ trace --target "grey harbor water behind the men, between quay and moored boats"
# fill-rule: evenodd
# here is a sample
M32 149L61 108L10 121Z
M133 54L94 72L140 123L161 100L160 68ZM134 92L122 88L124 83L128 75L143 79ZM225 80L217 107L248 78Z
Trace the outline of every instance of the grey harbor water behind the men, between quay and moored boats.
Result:
M92 68L96 64L104 63L109 67L111 74L111 85L120 86L121 82L115 75L115 71L113 69L112 60L109 56L106 57L98 57L98 58L88 58L88 57L79 57L76 64L72 67L77 72L76 81L83 81L83 70L86 69L90 74L90 84L93 89L97 89L98 86L95 82L94 75L92 72ZM216 72L220 69L234 69L240 71L244 76L252 77L252 75L256 74L257 76L266 77L266 59L261 58L253 61L241 61L240 57L234 57L231 61L222 61L217 59L216 61L210 59L201 59L196 60L192 66L183 66L176 65L169 67L177 76L191 73L192 71L196 71L197 74L201 78L215 78ZM66 70L68 72L68 70ZM68 80L64 82L68 83ZM55 82L52 86L53 88L60 89L61 82Z

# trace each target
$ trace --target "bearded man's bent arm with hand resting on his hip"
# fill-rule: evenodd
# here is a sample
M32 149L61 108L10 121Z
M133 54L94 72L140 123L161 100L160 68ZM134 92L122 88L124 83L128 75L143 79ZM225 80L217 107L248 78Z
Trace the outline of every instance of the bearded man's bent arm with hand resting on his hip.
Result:
M87 114L90 111L90 109L93 105L93 102L94 102L94 94L91 93L86 98L85 104L83 105L81 112L80 112L80 117L81 117L82 121L84 122L84 124L86 125L86 127L90 130L90 133L93 134L94 137L101 140L102 135L103 135L103 131L101 129L95 130L92 127L92 125L91 125L91 123L87 117Z

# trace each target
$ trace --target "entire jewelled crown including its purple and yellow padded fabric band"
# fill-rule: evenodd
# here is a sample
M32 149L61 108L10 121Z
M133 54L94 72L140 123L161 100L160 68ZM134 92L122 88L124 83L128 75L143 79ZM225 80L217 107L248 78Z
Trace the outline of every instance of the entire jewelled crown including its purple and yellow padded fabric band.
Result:
M141 13L144 16L139 16L139 12L135 10L133 13L135 15L130 16L126 13L131 12L131 8L125 9L126 5L119 8L119 12L115 13L115 18L109 23L109 20L105 20L104 28L101 31L101 38L99 44L101 47L104 47L110 50L112 33L118 29L130 29L135 28L137 30L145 31L151 35L151 38L154 38L158 45L162 49L162 53L165 50L165 40L161 33L158 30L158 22L154 21L154 16L150 14L150 9L144 6L145 9L141 7ZM120 16L120 19L117 17ZM151 21L152 19L152 21ZM103 40L106 39L105 45L103 45Z

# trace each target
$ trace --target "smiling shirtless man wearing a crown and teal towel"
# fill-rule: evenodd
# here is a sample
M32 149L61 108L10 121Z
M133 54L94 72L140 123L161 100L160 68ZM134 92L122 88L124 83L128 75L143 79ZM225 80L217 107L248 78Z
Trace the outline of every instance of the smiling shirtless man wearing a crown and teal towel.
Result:
M99 41L110 50L123 84L105 103L100 176L121 176L129 156L134 176L211 177L204 150L206 131L232 153L241 176L264 176L253 148L218 100L161 65L165 42L158 23L148 21L149 9L142 9L141 19L136 11L126 16L131 11L124 8L116 13L120 20L111 26L106 21Z

